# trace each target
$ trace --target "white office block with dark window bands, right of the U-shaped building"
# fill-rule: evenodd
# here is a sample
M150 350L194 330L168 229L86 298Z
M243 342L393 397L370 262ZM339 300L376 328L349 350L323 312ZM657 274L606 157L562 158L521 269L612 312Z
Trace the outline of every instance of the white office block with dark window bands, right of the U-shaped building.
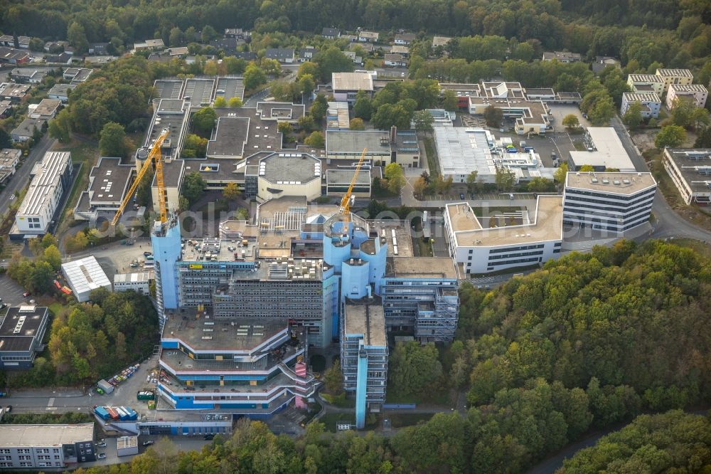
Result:
M657 189L651 173L570 172L563 222L622 233L649 220Z

